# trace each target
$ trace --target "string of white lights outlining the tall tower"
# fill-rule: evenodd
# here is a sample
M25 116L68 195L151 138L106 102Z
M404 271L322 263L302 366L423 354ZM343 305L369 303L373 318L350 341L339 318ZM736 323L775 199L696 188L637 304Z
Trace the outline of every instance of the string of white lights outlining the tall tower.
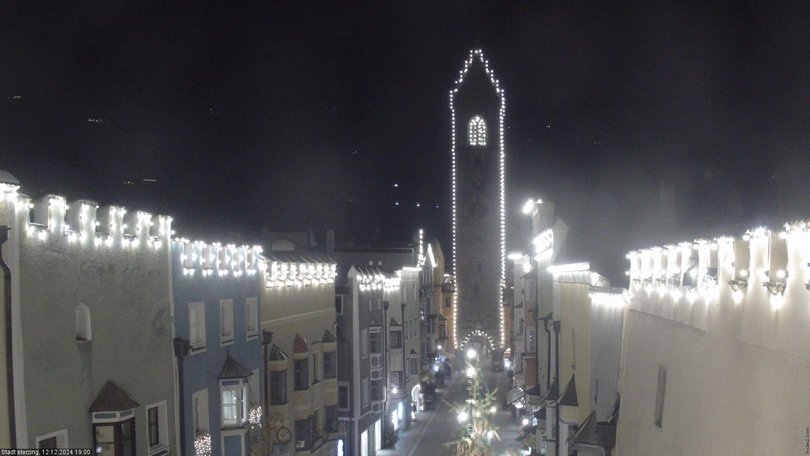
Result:
M457 216L457 208L456 208L456 113L455 108L453 105L453 99L456 92L460 88L461 84L464 82L464 77L467 75L467 72L472 65L475 59L479 59L480 62L484 65L484 71L486 72L487 76L489 76L490 83L495 88L495 93L498 94L498 97L501 100L501 106L498 112L498 147L500 149L499 160L500 160L500 217L501 217L501 280L500 280L500 289L503 290L506 284L506 152L505 152L505 143L504 143L504 117L506 115L506 97L504 96L503 89L500 88L500 84L498 80L495 78L494 73L489 68L489 62L486 58L484 58L484 54L480 49L474 49L470 51L470 55L467 60L464 62L464 68L459 72L459 77L455 81L455 86L453 89L450 90L450 124L451 124L451 157L452 157L452 199L453 199L453 274L457 274L457 266L458 266L458 255L456 249L456 216ZM459 291L456 290L456 293L453 295L453 321L458 321L458 301L459 301ZM499 297L499 301L502 297ZM500 341L502 346L506 346L506 332L505 332L505 322L504 322L504 311L503 306L501 303L498 303L499 309L499 316L500 316ZM458 340L458 332L457 328L458 325L453 325L453 342Z

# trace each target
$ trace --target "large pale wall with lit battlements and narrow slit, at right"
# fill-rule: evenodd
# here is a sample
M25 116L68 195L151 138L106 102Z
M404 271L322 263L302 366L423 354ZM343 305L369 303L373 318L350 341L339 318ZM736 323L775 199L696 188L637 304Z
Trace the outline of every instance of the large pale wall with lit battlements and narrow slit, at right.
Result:
M628 259L619 454L801 454L810 423L807 223Z

